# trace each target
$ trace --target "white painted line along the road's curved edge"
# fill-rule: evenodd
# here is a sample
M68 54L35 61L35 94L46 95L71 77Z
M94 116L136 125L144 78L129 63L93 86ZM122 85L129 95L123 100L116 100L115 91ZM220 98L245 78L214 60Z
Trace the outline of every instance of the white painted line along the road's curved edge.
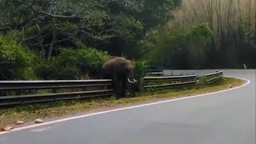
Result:
M234 78L234 77L226 77L226 78ZM54 120L54 121L50 121L50 122L44 122L44 123L40 123L40 124L34 124L34 125L30 125L30 126L22 126L22 127L14 128L11 131L1 132L0 135L1 134L11 133L11 132L18 131L18 130L26 130L26 129L30 129L30 128L38 127L38 126L46 126L46 125L50 125L50 124L57 123L57 122L65 122L65 121L69 121L69 120L72 120L72 119L86 118L86 117L90 117L90 116L98 115L98 114L106 114L106 113L111 113L111 112L120 111L120 110L134 109L134 108L138 108L138 107L142 107L142 106L152 106L152 105L157 105L157 104L166 103L166 102L174 102L174 101L179 101L179 100L183 100L183 99L197 98L197 97L211 95L211 94L218 94L218 93L222 93L222 92L226 92L226 91L230 91L230 90L239 89L239 88L241 88L243 86L247 86L250 83L250 80L248 80L246 78L238 78L238 79L245 80L246 84L244 84L242 86L237 86L237 87L234 87L234 88L231 88L231 89L220 90L220 91L216 91L216 92L212 92L212 93L207 93L207 94L198 94L198 95L194 95L194 96L190 96L190 97L185 97L185 98L175 98L175 99L170 99L170 100L161 101L161 102L152 102L152 103L142 104L142 105L138 105L138 106L129 106L129 107L123 107L123 108L114 109L114 110L106 110L106 111L92 113L92 114L83 114L83 115L79 115L79 116L75 116L75 117L70 117L70 118L62 118L62 119L58 119L58 120Z

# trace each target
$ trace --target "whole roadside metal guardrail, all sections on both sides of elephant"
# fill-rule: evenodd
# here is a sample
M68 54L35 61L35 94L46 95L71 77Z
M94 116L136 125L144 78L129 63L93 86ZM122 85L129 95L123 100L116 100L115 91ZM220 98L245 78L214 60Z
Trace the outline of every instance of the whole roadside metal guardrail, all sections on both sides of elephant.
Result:
M214 82L223 77L222 71L206 74L206 82ZM169 89L179 86L190 86L198 82L197 75L145 77L140 81L141 90ZM57 80L57 81L0 81L0 92L11 90L53 90L50 94L21 94L0 96L0 106L11 106L25 103L54 102L79 98L108 97L114 94L106 87L112 86L111 79L98 80ZM103 87L98 90L57 93L58 89Z

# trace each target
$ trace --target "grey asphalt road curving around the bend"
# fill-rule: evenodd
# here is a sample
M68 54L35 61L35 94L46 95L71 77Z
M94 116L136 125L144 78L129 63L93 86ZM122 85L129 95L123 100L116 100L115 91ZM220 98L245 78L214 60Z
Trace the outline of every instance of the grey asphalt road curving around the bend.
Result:
M225 76L249 79L250 84L218 94L0 134L0 143L255 144L255 70L223 71ZM209 70L194 73L207 74Z

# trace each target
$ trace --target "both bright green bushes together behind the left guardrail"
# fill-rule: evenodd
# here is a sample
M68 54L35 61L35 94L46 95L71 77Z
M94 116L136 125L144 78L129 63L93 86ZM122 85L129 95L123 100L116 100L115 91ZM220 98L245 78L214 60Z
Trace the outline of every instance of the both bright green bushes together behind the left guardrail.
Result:
M0 79L86 79L98 78L101 66L110 54L78 46L62 48L49 61L21 46L11 38L0 36Z

